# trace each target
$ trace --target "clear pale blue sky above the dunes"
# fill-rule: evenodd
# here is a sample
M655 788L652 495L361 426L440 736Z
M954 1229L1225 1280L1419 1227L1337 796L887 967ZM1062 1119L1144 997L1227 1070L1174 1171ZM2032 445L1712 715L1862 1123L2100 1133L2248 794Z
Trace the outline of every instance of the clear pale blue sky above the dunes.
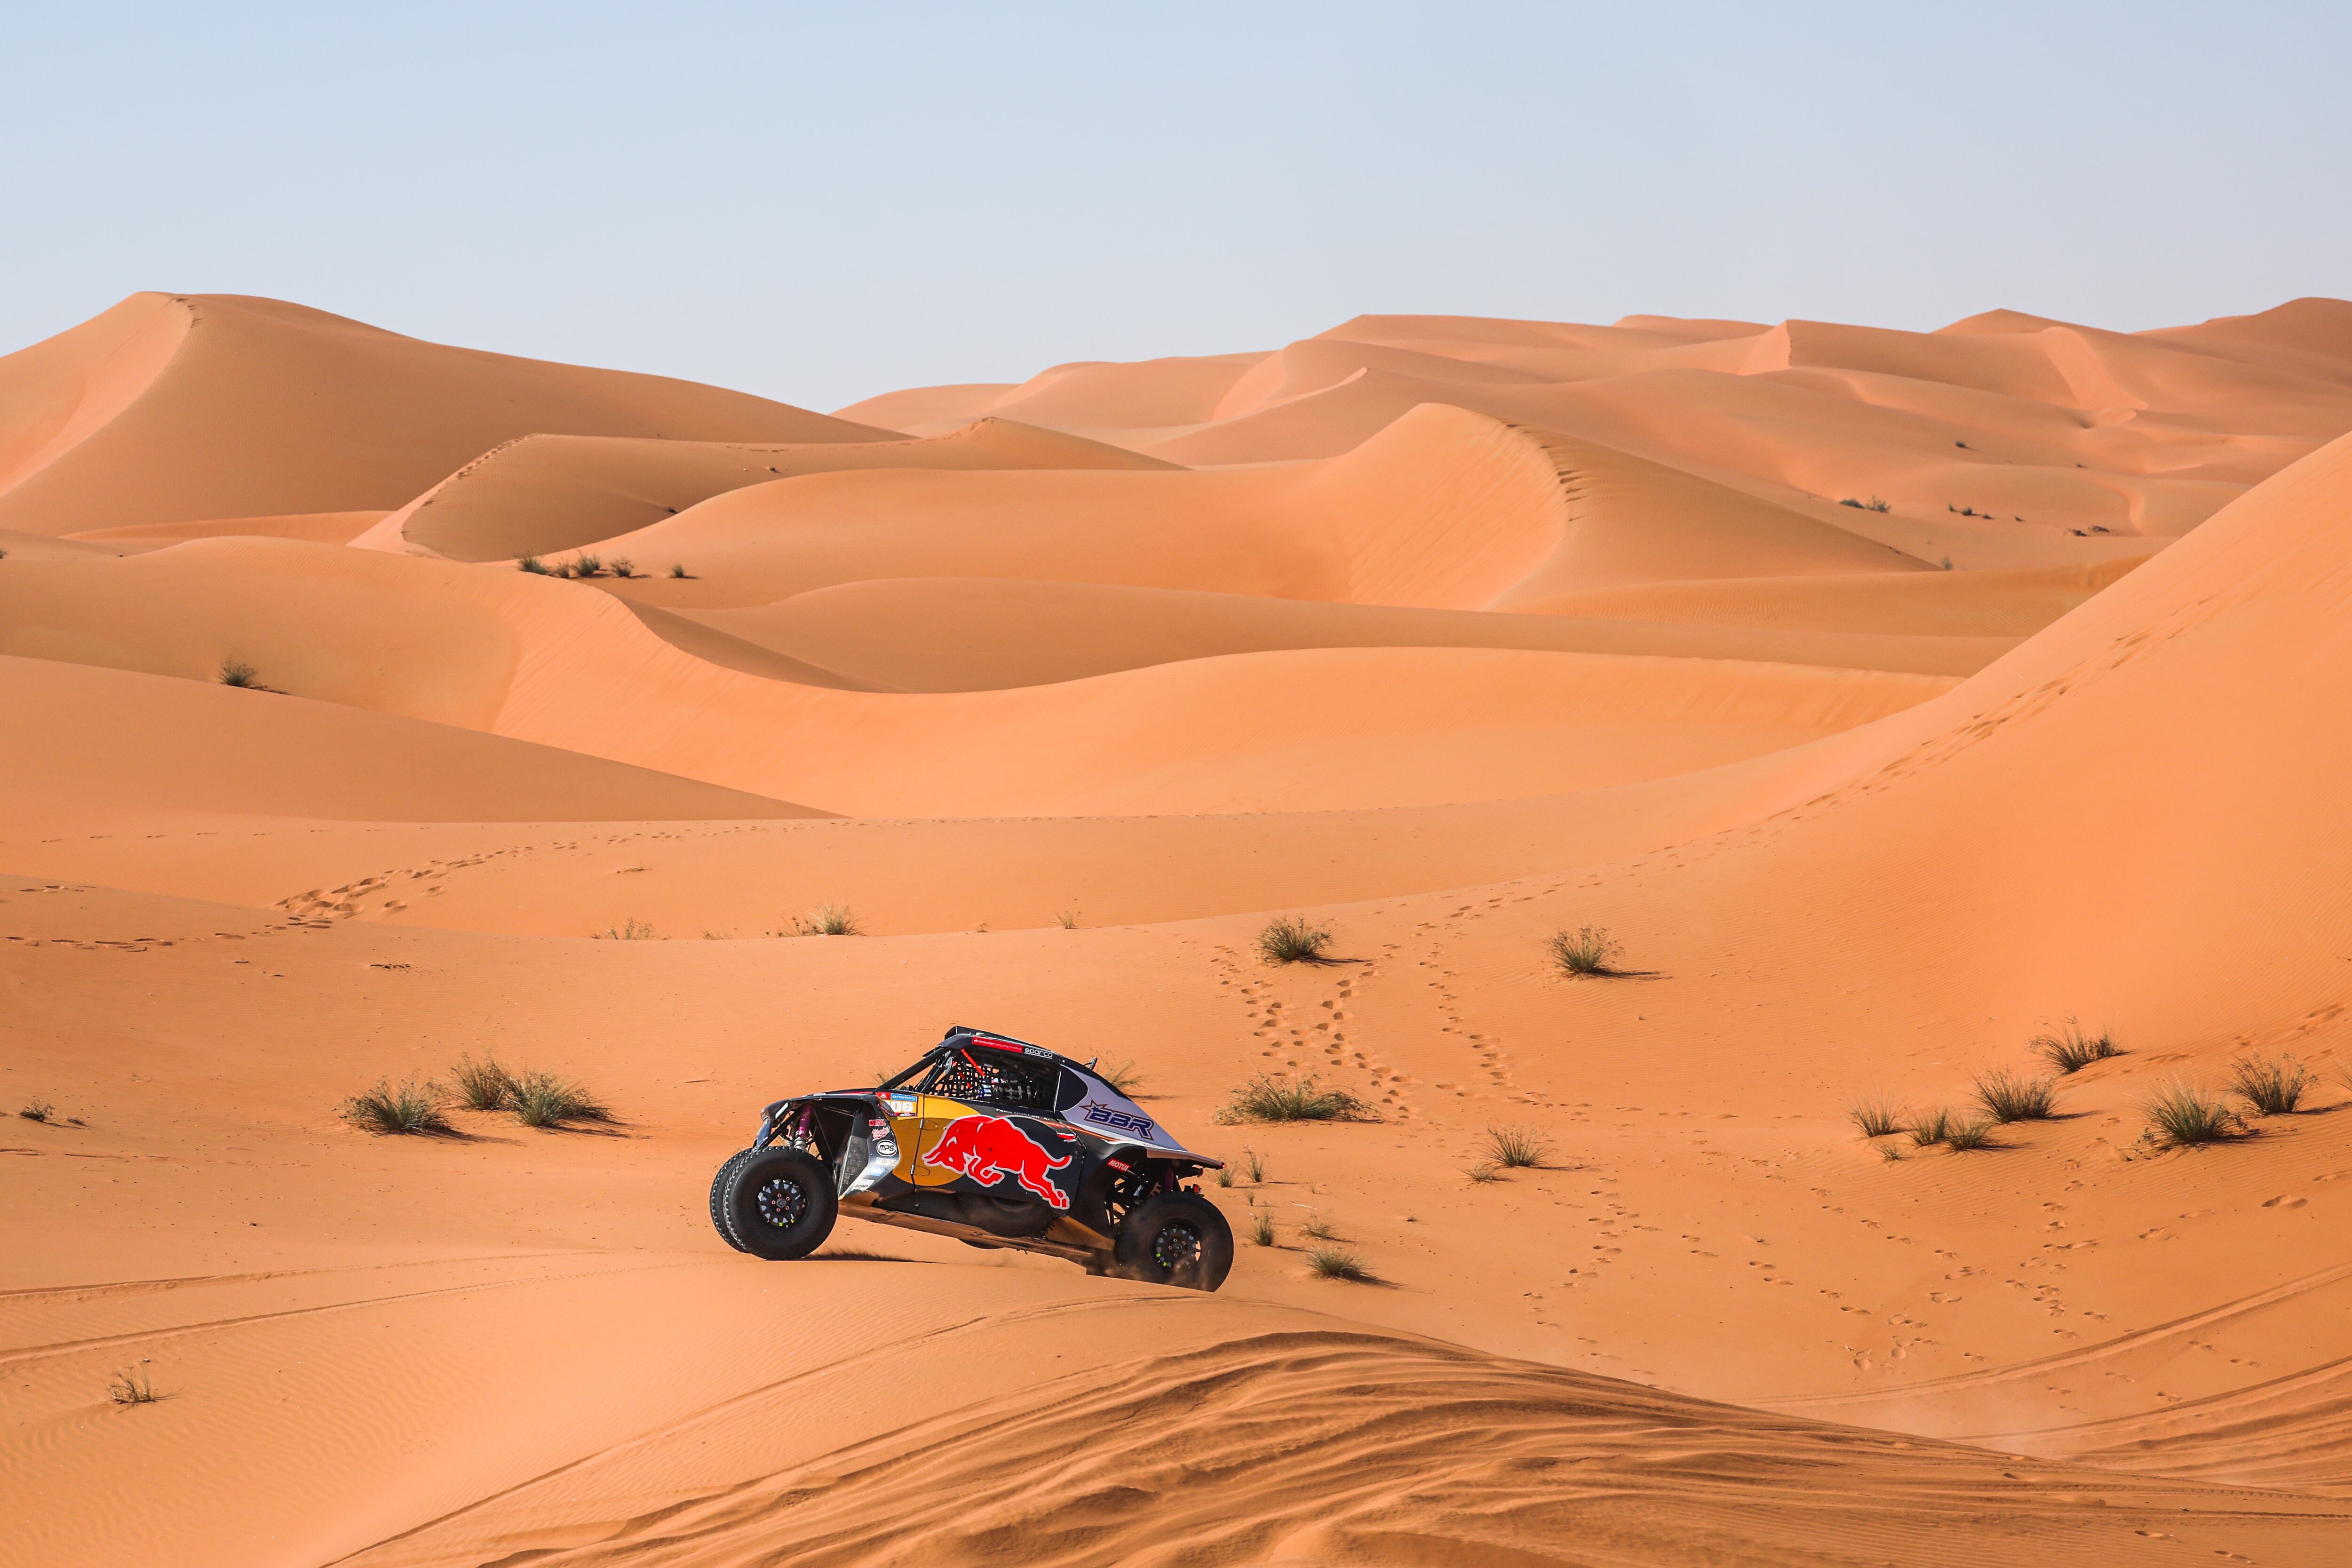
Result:
M134 289L840 407L1364 310L2352 296L2352 5L47 5L0 350Z

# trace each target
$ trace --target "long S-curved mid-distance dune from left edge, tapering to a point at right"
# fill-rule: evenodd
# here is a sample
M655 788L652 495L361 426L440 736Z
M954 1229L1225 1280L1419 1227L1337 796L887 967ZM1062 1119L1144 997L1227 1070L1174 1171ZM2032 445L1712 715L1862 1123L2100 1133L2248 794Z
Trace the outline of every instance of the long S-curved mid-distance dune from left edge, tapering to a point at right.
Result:
M158 614L165 604L174 614ZM579 583L282 541L28 564L0 581L0 625L9 654L195 679L242 663L301 696L851 816L1552 795L1780 750L1952 684L1806 665L1371 646L882 696L713 665ZM1456 698L1463 679L1486 691L1475 710ZM1409 745L1439 736L1437 748ZM960 750L990 762L924 766ZM1150 766L1136 766L1141 755Z

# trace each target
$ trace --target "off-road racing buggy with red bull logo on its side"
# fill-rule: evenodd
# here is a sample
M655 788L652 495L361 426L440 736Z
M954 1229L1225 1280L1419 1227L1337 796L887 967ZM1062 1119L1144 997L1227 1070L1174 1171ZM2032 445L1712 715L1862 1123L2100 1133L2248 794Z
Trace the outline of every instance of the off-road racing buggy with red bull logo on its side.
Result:
M875 1088L769 1105L710 1180L710 1222L769 1260L807 1258L851 1215L1214 1291L1232 1229L1197 1178L1216 1166L1089 1067L955 1025Z

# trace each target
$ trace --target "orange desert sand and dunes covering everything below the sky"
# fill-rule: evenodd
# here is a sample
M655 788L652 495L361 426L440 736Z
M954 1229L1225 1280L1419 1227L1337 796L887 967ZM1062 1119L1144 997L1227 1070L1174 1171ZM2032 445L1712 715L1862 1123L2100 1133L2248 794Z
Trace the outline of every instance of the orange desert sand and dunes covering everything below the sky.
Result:
M2328 299L835 414L230 296L0 357L0 1563L2352 1561L2347 433ZM1985 1147L1849 1117L2070 1020ZM1275 1241L713 1234L950 1023ZM341 1119L459 1056L619 1119Z

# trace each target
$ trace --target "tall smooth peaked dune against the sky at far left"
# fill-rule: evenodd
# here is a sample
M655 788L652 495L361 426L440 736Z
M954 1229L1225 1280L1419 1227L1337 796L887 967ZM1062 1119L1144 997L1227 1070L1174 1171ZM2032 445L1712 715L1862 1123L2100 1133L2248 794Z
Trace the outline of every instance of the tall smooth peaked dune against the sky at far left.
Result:
M134 294L0 360L0 529L388 510L534 433L884 435L687 381L421 343L273 299Z

